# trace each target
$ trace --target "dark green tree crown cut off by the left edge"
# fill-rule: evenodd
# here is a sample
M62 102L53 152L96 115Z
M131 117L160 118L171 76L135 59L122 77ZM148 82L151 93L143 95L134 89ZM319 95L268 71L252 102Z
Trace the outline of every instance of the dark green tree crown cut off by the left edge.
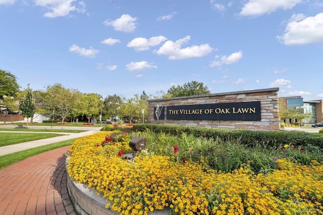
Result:
M8 71L0 70L0 96L15 96L19 92L19 87L15 75Z

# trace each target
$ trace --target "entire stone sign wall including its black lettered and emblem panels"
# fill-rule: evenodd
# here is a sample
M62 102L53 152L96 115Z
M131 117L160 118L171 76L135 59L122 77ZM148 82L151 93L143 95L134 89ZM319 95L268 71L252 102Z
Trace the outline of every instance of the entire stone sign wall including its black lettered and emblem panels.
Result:
M279 130L279 88L148 100L148 123Z

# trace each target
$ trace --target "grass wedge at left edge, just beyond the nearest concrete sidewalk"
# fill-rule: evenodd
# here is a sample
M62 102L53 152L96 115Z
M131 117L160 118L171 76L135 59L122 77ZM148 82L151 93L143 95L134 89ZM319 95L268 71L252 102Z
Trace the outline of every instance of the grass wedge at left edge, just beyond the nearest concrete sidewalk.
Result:
M51 133L0 133L0 146L12 145L33 140L63 136L64 134Z

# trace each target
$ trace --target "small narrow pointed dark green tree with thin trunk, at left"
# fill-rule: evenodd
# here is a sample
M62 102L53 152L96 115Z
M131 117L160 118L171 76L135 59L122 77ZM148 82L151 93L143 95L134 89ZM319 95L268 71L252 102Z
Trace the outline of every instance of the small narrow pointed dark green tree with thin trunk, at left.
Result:
M35 98L32 90L29 88L29 84L27 86L27 94L20 100L19 109L21 111L22 116L27 118L27 128L29 118L33 118L36 110Z

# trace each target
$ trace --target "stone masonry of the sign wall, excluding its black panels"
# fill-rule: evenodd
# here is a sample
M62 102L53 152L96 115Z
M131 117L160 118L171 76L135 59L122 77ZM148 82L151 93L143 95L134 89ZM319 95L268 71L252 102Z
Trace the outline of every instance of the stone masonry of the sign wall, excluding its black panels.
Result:
M278 109L279 88L268 88L258 90L245 90L236 92L214 93L197 96L183 96L165 99L148 100L148 123L199 126L208 128L248 129L248 130L272 130L278 131L279 109ZM261 121L229 121L229 120L168 120L166 119L167 106L209 104L209 103L230 103L260 101ZM164 106L165 119L154 120L154 107Z

